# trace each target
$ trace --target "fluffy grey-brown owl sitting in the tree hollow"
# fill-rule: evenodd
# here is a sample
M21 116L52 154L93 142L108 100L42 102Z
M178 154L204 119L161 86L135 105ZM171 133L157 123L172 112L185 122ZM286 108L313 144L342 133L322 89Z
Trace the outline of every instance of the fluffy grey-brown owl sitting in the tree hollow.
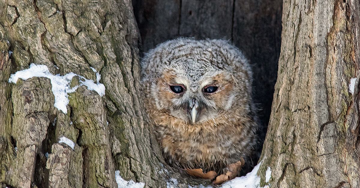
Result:
M252 72L224 40L178 38L141 61L144 103L168 164L221 173L256 145Z

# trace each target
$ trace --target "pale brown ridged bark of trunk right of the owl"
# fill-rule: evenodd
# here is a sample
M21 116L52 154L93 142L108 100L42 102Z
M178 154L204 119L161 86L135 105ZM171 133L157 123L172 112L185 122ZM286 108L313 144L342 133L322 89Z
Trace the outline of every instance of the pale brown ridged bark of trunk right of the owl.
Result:
M354 0L284 1L278 81L258 173L271 167L271 187L360 186L359 13ZM348 85L356 77L352 95Z

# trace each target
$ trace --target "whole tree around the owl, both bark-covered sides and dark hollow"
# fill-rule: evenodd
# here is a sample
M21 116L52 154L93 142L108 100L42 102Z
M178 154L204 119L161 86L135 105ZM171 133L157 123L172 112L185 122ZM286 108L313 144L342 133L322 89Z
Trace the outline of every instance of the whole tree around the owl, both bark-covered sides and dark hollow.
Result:
M233 41L254 64L266 125L280 1L164 2L134 1L143 4L135 13L144 51L176 36ZM358 187L359 3L285 1L283 8L261 185ZM0 24L1 187L117 187L115 170L145 187L209 183L180 175L162 159L140 97L140 40L129 0L5 0ZM52 75L79 75L66 110L54 107L48 78L9 83L32 63ZM80 86L84 79L97 82L91 68L102 76L103 96ZM59 143L62 137L75 146ZM265 183L268 167L273 173Z

